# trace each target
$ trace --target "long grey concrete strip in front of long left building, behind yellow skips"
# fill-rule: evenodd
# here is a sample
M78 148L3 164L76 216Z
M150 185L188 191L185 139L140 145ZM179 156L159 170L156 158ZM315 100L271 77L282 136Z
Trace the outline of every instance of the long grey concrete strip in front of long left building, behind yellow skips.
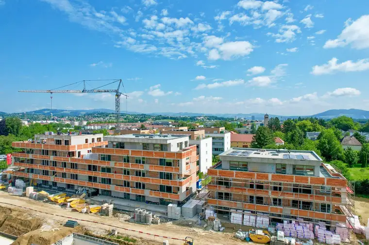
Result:
M146 211L152 212L153 215L159 214L161 216L167 217L168 207L163 206L163 205L146 204L145 202L118 199L118 198L112 198L112 197L100 196L100 195L95 196L95 197L90 197L86 200L88 200L92 204L101 205L103 200L110 200L110 199L114 201L115 209L119 209L122 211L128 211L128 212L134 212L136 208L140 208L140 209L146 209Z

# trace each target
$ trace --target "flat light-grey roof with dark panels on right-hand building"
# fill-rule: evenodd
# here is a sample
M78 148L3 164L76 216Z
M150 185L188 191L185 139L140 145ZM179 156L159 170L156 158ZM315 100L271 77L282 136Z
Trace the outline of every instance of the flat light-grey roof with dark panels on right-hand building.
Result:
M274 150L274 149L252 149L252 148L231 148L220 156L239 156L239 157L257 157L270 159L293 159L293 160L310 160L322 161L319 155L313 151L298 150Z

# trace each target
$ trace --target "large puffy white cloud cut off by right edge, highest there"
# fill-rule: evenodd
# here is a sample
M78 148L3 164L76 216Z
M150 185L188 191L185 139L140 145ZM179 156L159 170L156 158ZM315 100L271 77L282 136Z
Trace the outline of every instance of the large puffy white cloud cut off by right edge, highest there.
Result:
M335 48L351 45L355 49L369 48L369 15L363 15L357 20L348 19L345 29L335 40L328 40L324 48Z

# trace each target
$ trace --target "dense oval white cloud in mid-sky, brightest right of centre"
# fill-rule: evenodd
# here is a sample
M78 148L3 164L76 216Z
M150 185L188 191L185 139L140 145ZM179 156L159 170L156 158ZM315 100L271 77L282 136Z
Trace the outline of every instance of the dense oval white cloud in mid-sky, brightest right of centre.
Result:
M223 43L209 52L209 60L231 60L233 58L249 55L253 51L253 46L247 41L236 41Z

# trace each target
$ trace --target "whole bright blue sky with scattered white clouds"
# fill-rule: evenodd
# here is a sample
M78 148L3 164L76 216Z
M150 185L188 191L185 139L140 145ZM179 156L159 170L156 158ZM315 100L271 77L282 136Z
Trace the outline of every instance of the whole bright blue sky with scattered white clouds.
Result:
M50 108L50 94L18 90L112 78L123 80L128 110L144 113L368 109L368 9L368 0L0 0L0 111ZM55 93L53 108L114 109L114 94Z

